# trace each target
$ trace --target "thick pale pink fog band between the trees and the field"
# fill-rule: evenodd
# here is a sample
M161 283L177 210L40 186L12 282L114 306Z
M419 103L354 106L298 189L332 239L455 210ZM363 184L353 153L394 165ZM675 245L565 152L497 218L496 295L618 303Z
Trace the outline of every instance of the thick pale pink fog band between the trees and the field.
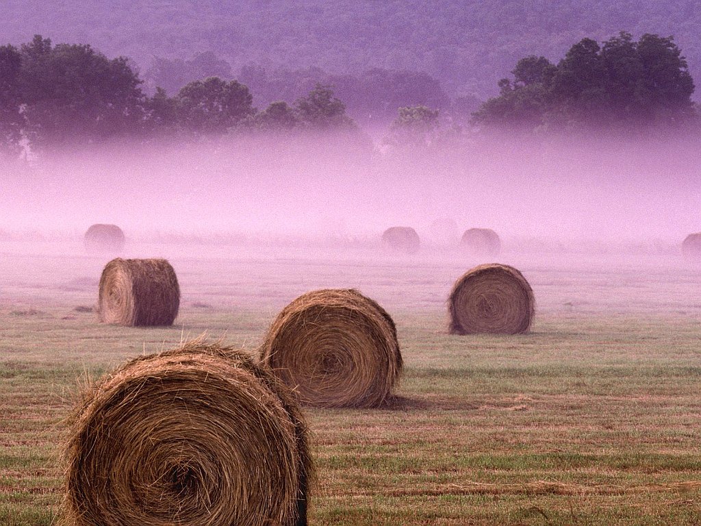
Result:
M489 227L507 250L672 250L701 230L695 143L490 137L387 149L356 139L238 137L30 158L3 169L0 230L78 238L114 223L141 241L373 243L406 225L437 245ZM451 222L456 232L445 231Z

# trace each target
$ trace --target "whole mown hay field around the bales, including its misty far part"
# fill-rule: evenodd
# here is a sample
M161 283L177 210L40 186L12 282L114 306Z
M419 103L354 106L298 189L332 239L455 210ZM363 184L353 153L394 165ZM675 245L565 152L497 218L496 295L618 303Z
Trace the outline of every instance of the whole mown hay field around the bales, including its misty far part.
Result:
M85 377L207 332L253 350L275 314L354 287L397 323L407 366L382 410L306 410L310 525L701 524L701 271L672 255L505 255L533 286L529 335L447 335L472 262L144 246L182 288L172 328L99 325L105 261L0 255L0 524L48 525L62 420ZM56 253L54 253L56 252ZM206 253L207 257L201 255Z

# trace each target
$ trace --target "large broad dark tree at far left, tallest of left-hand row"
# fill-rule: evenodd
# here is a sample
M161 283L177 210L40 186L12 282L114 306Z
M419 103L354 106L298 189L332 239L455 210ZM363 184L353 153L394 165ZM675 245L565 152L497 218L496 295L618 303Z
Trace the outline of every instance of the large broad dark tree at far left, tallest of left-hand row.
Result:
M20 54L23 114L32 147L97 142L142 130L146 97L126 58L109 60L87 44L52 46L40 35Z

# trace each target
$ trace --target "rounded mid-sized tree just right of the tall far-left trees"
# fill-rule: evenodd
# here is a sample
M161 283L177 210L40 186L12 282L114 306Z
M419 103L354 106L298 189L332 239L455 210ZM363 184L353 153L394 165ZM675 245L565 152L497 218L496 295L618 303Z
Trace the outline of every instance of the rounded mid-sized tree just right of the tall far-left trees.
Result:
M247 86L218 76L186 84L175 100L179 125L196 135L224 133L255 113Z

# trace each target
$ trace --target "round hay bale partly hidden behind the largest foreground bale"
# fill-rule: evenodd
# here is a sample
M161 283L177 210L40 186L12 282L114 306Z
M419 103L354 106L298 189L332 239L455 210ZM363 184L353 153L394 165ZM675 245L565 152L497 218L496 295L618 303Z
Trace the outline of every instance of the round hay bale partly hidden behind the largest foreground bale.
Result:
M352 289L315 290L287 305L261 359L302 403L317 407L378 407L402 373L392 318Z

